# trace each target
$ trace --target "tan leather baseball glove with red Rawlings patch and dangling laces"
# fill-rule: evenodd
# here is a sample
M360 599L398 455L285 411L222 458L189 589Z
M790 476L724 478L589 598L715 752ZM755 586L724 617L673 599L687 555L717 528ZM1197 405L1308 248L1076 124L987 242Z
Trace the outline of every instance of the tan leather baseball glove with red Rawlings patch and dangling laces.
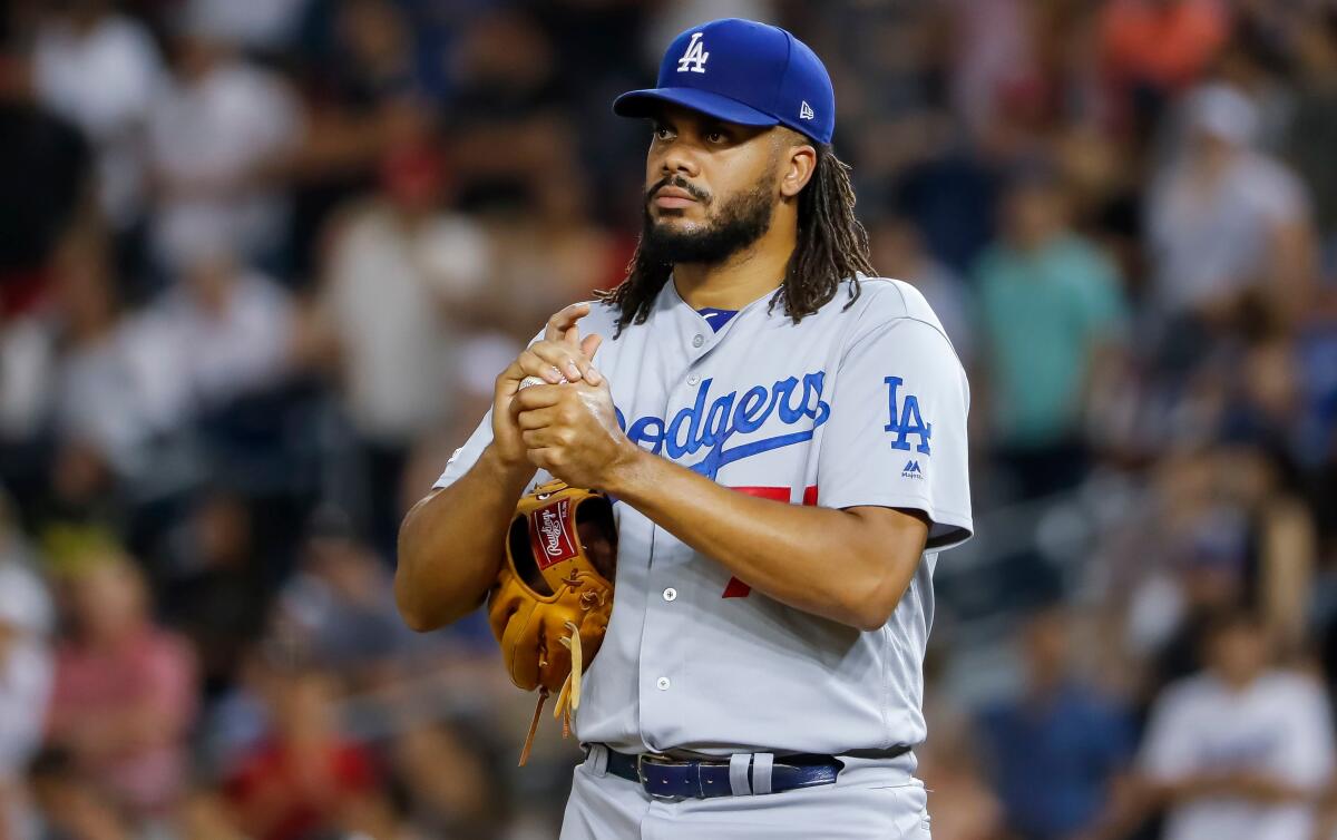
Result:
M554 480L516 506L488 617L511 681L539 690L521 765L550 694L558 694L563 734L571 730L580 675L608 629L616 548L612 503L600 492Z

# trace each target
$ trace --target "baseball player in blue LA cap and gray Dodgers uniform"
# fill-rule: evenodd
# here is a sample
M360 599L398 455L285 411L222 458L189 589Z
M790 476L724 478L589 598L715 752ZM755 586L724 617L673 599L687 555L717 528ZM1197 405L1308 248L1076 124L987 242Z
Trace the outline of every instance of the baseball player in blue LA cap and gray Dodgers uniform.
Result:
M599 488L615 597L562 837L928 837L932 575L972 530L961 365L923 296L872 276L830 79L793 35L694 27L614 111L651 126L628 277L497 377L404 522L400 609L468 614L525 490Z

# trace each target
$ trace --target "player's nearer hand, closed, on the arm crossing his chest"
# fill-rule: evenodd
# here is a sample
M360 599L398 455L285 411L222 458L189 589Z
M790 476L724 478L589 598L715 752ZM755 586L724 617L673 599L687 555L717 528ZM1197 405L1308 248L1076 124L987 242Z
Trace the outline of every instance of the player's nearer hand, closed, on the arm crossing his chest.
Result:
M572 487L606 490L642 452L618 427L602 377L525 388L511 404L529 461Z

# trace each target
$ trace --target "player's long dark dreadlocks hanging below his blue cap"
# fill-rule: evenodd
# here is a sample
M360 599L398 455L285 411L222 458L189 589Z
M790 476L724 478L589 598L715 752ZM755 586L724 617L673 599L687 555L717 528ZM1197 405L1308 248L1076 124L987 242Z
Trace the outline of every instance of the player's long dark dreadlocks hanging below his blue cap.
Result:
M830 144L817 146L813 178L798 194L798 241L785 269L785 281L770 298L770 309L783 304L785 314L797 324L829 302L840 281L856 272L873 274L868 254L868 233L854 218L854 187L850 167L836 156ZM627 278L615 289L596 292L598 298L616 306L615 336L628 324L644 324L650 308L673 265L650 255L644 241L627 264ZM858 284L850 284L850 306L858 298Z

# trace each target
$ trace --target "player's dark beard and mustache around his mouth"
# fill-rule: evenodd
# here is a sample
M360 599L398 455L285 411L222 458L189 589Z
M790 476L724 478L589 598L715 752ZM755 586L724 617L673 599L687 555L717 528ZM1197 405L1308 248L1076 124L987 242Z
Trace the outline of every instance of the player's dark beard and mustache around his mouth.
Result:
M670 183L689 190L698 201L706 198L685 182L670 181ZM770 230L773 182L759 183L746 193L733 195L721 205L713 219L695 230L673 230L666 223L656 223L650 215L651 195L662 185L655 185L642 205L640 250L652 262L719 265L750 247Z

